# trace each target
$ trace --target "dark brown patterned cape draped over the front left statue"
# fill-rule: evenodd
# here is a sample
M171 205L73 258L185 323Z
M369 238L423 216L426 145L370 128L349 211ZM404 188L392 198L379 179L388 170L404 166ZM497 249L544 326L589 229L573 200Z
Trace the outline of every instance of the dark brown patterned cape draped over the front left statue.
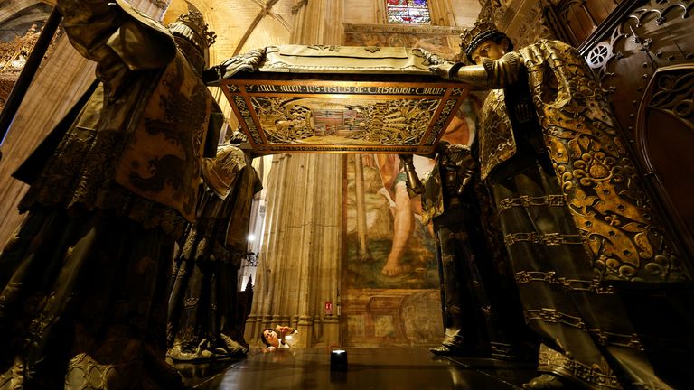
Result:
M206 140L217 142L211 92L173 36L145 15L114 13L108 2L63 6L70 7L64 22L70 42L97 61L101 85L20 209L37 203L117 209L180 233L178 219L195 218Z

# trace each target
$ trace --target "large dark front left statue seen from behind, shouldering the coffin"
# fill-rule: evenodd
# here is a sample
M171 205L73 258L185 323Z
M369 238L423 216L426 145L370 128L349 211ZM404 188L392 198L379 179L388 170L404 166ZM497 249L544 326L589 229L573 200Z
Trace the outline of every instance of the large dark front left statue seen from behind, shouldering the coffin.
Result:
M0 255L0 388L182 388L166 287L219 136L201 79L212 35L197 13L167 29L121 0L57 6L101 87L36 167Z

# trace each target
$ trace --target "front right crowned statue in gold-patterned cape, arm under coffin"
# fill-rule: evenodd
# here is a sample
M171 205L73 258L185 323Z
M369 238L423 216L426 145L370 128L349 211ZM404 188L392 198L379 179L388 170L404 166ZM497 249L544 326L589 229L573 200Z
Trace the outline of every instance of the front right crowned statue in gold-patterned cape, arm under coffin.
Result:
M492 89L479 122L482 178L501 219L525 319L543 342L543 374L524 387L564 388L570 381L591 389L681 388L675 384L683 376L665 378L648 359L661 344L653 339L667 335L634 329L621 292L691 277L649 209L586 63L563 42L513 51L484 20L461 37L476 65L424 54L443 78ZM682 342L690 343L686 337Z

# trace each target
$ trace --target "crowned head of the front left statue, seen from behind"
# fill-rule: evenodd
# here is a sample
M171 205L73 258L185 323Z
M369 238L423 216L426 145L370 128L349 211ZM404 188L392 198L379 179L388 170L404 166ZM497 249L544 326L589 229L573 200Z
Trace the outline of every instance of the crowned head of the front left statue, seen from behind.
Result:
M183 51L192 68L202 74L210 65L210 46L217 39L217 35L208 30L202 14L197 11L182 14L168 27L174 34L176 46Z

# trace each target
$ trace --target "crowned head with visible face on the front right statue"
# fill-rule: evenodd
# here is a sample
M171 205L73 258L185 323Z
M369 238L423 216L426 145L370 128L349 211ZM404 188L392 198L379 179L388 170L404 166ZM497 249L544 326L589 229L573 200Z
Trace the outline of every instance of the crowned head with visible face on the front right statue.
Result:
M501 32L491 19L482 17L473 27L460 34L460 47L470 63L482 64L484 58L499 60L503 54L513 50L511 39Z

